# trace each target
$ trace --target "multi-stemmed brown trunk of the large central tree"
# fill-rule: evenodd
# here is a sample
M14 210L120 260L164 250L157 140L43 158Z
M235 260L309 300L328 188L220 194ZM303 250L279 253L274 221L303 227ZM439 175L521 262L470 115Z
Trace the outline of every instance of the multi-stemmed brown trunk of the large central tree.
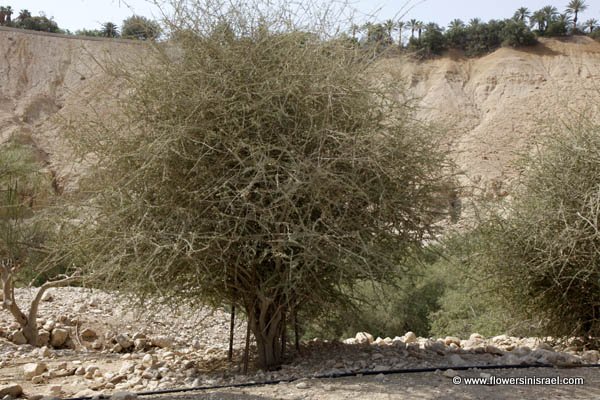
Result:
M257 301L249 318L252 333L256 339L258 364L265 370L272 370L282 362L281 336L284 328L283 307L271 300Z

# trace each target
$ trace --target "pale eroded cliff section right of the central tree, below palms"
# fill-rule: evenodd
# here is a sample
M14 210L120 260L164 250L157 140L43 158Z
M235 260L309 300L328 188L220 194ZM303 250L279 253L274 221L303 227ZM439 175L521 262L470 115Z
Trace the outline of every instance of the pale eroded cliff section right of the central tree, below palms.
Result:
M449 54L386 63L389 73L407 79L417 115L454 139L465 183L490 196L509 194L514 161L561 121L586 111L600 119L600 43L587 37L541 39L533 48L476 59Z

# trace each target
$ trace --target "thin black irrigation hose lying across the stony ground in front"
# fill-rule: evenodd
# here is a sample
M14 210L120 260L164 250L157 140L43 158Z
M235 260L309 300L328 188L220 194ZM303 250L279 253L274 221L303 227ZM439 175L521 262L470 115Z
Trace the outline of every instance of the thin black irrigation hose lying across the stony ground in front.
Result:
M162 389L152 390L148 392L136 393L138 396L157 396L162 394L171 393L185 393L185 392L199 392L204 390L215 390L215 389L231 389L231 388L242 388L251 386L267 386L267 385L278 385L280 383L290 383L298 381L300 379L335 379L335 378L348 378L351 376L369 376L369 375L392 375L392 374L415 374L420 372L436 372L436 371L447 371L452 369L454 371L467 371L470 369L527 369L527 368L600 368L600 364L578 364L568 365L564 367L552 365L552 364L518 364L518 365L471 365L461 367L428 367L428 368L407 368L407 369L387 369L384 371L359 371L359 372L343 372L339 374L323 374L314 375L311 377L303 378L289 378L289 379L277 379L262 382L246 382L246 383L234 383L230 385L214 385L214 386L196 386L191 388L174 388L174 389ZM109 399L110 395L83 396L83 397L71 397L64 400L92 400L92 399Z

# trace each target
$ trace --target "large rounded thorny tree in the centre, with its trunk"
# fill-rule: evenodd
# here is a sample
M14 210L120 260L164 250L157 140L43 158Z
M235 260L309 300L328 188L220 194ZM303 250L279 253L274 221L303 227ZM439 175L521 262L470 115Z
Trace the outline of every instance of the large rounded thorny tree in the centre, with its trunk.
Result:
M125 121L87 148L104 190L76 247L113 287L241 307L273 367L293 313L430 237L447 161L352 44L248 21L188 24L126 76Z

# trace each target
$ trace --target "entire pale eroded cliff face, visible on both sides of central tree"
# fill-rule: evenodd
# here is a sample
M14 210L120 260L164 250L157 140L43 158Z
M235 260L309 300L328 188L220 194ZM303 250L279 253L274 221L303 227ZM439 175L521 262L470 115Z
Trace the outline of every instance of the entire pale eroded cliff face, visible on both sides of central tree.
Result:
M80 171L64 122L92 109L108 113L121 85L101 65L134 63L143 52L131 42L1 29L0 142L32 144L68 186ZM391 58L380 68L406 82L419 118L454 140L464 181L492 196L509 194L513 161L551 125L586 108L600 115L600 43L587 37L542 39L533 48L502 48L477 59Z

